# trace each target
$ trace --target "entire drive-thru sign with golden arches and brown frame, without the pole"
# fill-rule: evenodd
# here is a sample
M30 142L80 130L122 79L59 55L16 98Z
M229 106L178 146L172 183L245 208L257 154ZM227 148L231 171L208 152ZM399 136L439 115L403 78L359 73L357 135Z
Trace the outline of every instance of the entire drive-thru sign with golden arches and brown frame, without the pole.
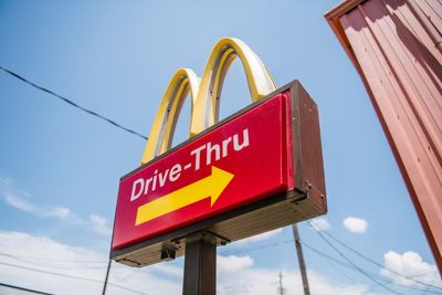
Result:
M234 57L254 102L218 122ZM189 94L190 138L170 149ZM189 69L172 77L141 166L120 179L110 256L149 265L182 255L193 233L225 244L326 211L316 104L298 81L275 89L257 55L228 38L215 45L201 81Z

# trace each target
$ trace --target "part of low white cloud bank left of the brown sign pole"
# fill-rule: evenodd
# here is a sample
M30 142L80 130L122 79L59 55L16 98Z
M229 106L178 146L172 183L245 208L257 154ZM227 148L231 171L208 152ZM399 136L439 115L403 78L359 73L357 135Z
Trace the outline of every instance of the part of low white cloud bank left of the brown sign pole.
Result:
M0 232L0 277L2 283L29 287L52 294L101 294L107 266L107 252L98 253L83 247L70 246L52 239L22 232ZM87 282L72 277L54 276L46 273L13 267L38 268L64 275L87 277ZM117 263L113 264L109 282L147 294L179 294L178 280L162 278L164 273L181 271L175 265L162 264L155 273ZM182 271L181 271L182 274ZM25 280L23 280L25 277ZM180 278L180 277L179 277ZM134 294L108 285L106 294Z

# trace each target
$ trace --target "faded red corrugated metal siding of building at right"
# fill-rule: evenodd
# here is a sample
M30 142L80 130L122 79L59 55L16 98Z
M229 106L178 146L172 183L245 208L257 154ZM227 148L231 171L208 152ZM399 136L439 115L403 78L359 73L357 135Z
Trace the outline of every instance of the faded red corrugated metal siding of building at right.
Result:
M346 1L327 13L359 71L442 271L442 2Z

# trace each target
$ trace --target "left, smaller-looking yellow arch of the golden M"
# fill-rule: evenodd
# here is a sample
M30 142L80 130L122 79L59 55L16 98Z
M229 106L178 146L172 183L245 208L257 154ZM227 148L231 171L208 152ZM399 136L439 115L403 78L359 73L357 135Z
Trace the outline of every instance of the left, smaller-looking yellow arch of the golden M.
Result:
M175 73L155 116L141 165L170 148L177 119L189 92L192 99L191 116L193 117L199 82L199 77L190 69L180 69Z

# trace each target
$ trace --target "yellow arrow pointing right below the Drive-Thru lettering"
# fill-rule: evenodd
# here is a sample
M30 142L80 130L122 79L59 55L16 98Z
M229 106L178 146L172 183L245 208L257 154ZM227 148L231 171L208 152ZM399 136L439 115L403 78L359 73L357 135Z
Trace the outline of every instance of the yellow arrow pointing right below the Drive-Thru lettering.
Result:
M162 217L209 197L211 199L210 206L213 206L233 177L234 175L212 166L210 176L138 207L135 225Z

